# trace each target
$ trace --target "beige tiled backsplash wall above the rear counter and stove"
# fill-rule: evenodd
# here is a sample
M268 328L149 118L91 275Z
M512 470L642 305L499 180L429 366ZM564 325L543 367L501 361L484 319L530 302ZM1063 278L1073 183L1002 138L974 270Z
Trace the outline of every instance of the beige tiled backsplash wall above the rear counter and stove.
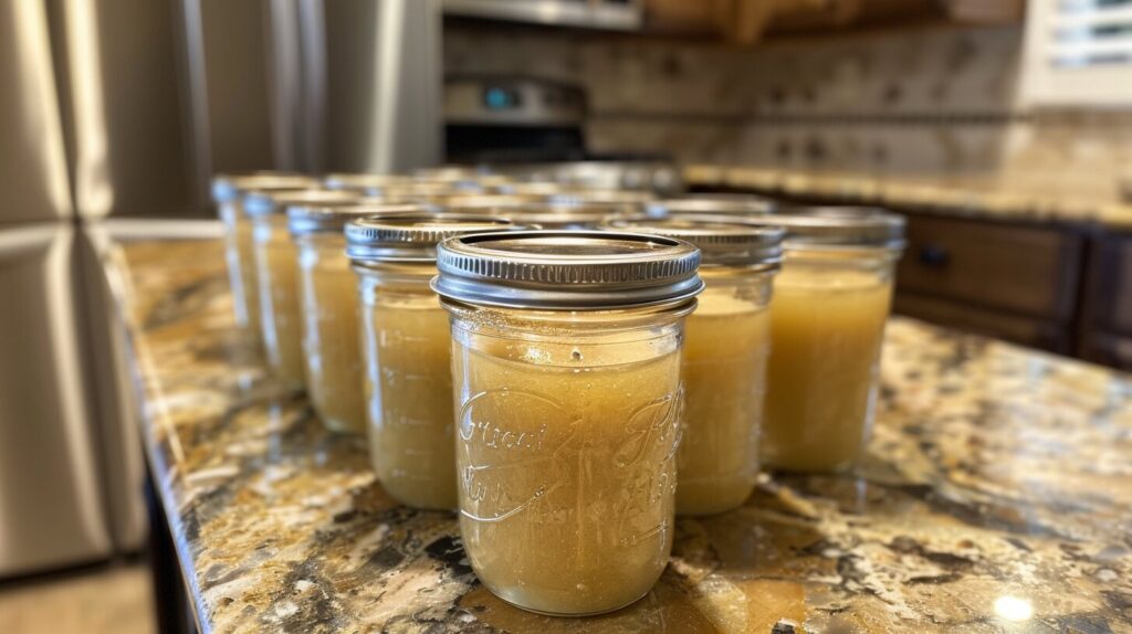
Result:
M925 26L771 41L706 41L446 25L445 71L573 81L597 151L686 163L877 175L1057 181L1072 160L1108 194L1132 165L1132 116L1015 107L1018 27ZM1077 170L1077 173L1086 172ZM1048 177L1046 177L1048 175Z

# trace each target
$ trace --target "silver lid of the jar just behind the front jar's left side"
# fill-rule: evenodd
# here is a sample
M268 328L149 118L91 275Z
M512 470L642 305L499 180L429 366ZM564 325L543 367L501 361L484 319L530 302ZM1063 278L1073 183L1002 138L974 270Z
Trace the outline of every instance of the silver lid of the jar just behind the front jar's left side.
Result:
M507 231L514 223L473 214L383 214L346 224L346 255L355 262L431 262L449 237Z

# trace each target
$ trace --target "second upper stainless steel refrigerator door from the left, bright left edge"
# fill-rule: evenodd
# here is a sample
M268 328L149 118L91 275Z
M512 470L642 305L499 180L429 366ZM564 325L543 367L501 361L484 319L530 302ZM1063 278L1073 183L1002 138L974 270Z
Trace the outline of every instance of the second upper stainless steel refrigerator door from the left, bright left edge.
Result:
M207 212L186 5L48 1L78 214Z

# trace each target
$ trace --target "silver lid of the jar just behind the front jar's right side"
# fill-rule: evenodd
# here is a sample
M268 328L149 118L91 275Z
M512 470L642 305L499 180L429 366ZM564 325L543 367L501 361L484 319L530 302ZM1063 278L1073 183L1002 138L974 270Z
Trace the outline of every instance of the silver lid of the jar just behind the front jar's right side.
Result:
M703 266L756 269L772 269L781 263L786 234L781 227L706 214L677 214L663 218L625 216L608 220L602 228L683 240L700 249Z

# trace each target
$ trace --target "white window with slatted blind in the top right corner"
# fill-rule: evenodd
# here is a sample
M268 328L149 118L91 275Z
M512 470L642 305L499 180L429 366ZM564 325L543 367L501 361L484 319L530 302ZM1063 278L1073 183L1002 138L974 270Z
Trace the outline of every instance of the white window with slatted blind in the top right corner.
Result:
M1132 0L1030 0L1022 101L1132 107Z

